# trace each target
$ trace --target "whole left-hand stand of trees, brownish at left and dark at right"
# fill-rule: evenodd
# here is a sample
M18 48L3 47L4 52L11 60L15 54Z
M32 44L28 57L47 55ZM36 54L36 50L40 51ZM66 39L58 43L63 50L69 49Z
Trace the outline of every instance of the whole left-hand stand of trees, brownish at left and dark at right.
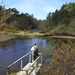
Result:
M0 6L0 30L8 29L34 29L37 28L37 19L33 14L19 13L16 8L5 9L5 6Z

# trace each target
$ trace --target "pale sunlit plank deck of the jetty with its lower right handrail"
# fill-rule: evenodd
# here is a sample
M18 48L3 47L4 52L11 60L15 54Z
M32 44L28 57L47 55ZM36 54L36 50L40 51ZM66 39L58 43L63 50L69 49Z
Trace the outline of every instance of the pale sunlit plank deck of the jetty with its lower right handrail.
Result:
M23 70L19 71L17 75L36 75L36 73L39 71L41 68L42 64L41 62L38 63L38 60L40 59L41 56L38 56L37 59L32 62L28 63Z

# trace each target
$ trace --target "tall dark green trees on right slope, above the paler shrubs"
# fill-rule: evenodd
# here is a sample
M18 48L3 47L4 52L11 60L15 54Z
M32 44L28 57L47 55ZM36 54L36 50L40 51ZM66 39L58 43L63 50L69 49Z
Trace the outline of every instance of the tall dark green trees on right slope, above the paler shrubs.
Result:
M59 23L69 25L73 18L75 18L75 3L69 3L63 5L60 10L56 9L55 12L49 12L46 21L47 25L52 28Z

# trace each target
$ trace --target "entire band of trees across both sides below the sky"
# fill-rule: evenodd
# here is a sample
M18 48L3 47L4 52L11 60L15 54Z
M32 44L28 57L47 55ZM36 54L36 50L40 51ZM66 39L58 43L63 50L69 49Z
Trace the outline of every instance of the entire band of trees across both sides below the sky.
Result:
M39 29L50 35L75 35L75 3L63 4L60 10L49 12L45 20L37 20L34 15L19 13L16 8L0 6L1 29Z

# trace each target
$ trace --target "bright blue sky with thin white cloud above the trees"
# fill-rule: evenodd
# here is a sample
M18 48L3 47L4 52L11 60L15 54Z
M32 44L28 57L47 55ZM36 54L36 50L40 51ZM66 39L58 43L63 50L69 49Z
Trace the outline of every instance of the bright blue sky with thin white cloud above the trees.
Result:
M2 3L3 1L3 3ZM0 0L6 8L16 8L20 13L33 14L37 19L46 19L49 12L60 9L63 4L75 0Z

